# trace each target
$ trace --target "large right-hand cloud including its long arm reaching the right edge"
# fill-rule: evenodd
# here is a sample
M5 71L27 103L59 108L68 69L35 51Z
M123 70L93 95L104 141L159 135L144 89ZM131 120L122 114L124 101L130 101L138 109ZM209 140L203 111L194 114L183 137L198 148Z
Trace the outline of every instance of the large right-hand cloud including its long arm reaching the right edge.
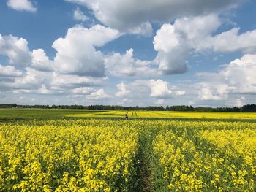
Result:
M256 52L256 30L238 34L238 28L213 33L222 22L215 14L192 18L178 18L175 23L164 24L154 37L157 50L157 64L163 74L187 72L187 58L190 53L217 53L242 51Z

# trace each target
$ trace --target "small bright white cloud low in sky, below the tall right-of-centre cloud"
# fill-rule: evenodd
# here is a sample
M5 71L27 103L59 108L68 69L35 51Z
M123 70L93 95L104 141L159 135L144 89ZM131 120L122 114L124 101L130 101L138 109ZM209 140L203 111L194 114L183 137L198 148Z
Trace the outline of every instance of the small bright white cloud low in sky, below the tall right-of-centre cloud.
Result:
M163 80L150 80L149 87L151 88L150 96L165 98L170 97L172 93L169 88L168 82Z

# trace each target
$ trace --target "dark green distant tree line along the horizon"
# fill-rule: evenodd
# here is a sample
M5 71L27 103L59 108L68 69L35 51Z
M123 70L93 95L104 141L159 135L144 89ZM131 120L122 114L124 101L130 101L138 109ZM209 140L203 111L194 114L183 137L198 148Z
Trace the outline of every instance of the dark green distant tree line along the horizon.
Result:
M69 110L127 110L127 111L196 111L196 112L256 112L256 104L246 104L243 107L192 107L188 105L176 106L148 106L124 107L118 105L18 105L0 104L0 108L39 108L39 109L69 109Z

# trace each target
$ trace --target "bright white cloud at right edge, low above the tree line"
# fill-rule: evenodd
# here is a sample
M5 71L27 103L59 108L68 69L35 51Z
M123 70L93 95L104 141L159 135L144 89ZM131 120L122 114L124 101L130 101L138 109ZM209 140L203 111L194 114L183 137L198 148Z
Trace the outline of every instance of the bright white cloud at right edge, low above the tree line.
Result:
M199 99L222 100L230 94L256 94L256 55L244 55L224 66L218 73L198 74Z

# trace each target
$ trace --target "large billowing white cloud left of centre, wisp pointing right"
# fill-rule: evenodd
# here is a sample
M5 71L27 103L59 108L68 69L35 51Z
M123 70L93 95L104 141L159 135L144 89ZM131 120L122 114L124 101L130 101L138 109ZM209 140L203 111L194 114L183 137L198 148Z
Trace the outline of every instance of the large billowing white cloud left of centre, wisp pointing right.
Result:
M57 51L54 58L56 70L61 74L103 77L104 55L95 47L102 47L118 36L118 31L100 25L69 28L66 37L53 42Z

